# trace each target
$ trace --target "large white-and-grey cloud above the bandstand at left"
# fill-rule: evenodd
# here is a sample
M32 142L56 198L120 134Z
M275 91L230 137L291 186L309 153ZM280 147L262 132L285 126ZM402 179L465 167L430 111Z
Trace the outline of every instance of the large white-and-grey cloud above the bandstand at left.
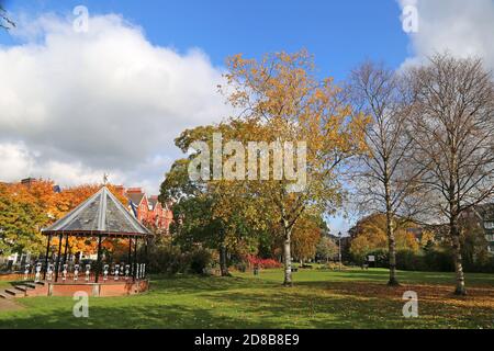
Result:
M178 134L228 115L223 71L199 49L151 45L113 14L87 33L54 15L25 23L25 44L0 47L0 180L70 185L108 171L156 192Z

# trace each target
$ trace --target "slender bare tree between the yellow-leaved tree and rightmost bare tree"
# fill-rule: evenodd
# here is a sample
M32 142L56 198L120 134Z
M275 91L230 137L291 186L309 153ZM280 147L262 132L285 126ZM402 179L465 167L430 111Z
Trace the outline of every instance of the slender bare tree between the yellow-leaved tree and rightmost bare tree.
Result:
M409 104L402 88L401 77L394 71L367 61L351 72L347 90L353 107L369 118L369 124L362 125L368 152L357 159L352 172L355 199L361 212L386 216L392 286L400 285L395 230L418 208L414 195L419 172L406 167L413 143L405 133Z

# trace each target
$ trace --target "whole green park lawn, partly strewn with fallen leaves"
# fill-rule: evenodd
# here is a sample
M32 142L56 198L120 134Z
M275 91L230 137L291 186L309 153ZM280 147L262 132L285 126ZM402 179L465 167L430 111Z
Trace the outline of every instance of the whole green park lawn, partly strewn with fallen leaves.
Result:
M90 298L89 318L72 316L70 297L19 299L0 312L0 328L493 328L494 275L468 274L470 295L451 294L453 274L385 270L302 271L282 287L281 270L259 276L155 276L143 295ZM418 294L418 318L404 318L403 293Z

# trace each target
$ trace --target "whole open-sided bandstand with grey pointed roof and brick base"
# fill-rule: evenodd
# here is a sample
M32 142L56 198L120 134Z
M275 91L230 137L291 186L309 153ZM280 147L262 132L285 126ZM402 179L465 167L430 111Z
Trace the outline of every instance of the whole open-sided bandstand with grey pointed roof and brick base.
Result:
M153 235L106 186L42 234L47 237L44 262L25 270L24 279L40 286L31 292L33 295L72 296L86 292L90 296L121 296L148 290L147 245ZM68 260L69 238L74 237L98 242L96 262ZM58 238L56 252L50 250L54 238ZM123 262L102 252L105 241L115 240L128 242Z

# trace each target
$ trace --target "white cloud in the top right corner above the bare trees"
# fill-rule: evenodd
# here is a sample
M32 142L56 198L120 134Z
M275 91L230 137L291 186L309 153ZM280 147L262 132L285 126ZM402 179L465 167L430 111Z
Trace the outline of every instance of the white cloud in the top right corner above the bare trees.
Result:
M493 0L398 0L418 10L418 32L411 34L414 57L406 64L449 50L459 57L479 56L494 69Z

